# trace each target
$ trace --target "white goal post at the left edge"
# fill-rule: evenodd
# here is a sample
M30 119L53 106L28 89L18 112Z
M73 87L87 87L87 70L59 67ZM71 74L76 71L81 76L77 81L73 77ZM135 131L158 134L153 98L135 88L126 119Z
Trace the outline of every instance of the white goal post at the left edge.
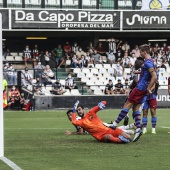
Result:
M2 71L2 14L0 13L0 157L4 157L4 112L3 112L3 71Z

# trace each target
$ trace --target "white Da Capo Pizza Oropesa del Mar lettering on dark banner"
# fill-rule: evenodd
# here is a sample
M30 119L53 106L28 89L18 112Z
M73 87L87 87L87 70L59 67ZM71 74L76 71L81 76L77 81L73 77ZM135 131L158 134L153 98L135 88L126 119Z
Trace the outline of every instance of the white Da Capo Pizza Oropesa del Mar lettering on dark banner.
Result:
M114 28L119 21L118 12L15 10L14 25L50 25L55 28ZM119 24L118 24L119 25Z

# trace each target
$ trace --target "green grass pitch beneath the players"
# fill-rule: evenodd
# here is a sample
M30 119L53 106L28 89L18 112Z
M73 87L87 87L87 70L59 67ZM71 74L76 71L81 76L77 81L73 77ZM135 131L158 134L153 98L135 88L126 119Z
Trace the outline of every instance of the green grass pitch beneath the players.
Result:
M99 117L110 122L120 110L103 110ZM148 133L129 144L100 143L75 131L66 111L5 111L5 157L23 170L169 170L170 110L157 110L157 134ZM131 113L130 113L131 114ZM130 123L132 119L130 119ZM122 123L120 123L121 125ZM0 170L10 170L0 161Z

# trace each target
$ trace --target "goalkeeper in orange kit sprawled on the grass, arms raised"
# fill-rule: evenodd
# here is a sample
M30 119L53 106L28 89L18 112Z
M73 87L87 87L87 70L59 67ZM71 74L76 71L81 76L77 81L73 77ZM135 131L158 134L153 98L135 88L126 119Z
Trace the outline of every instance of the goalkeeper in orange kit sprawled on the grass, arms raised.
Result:
M72 124L75 126L81 126L100 142L129 143L131 141L130 135L119 128L113 130L104 126L103 122L96 115L99 110L105 108L105 105L106 101L102 101L88 113L85 113L84 107L79 104L79 101L77 101L73 107ZM76 119L76 110L82 119Z

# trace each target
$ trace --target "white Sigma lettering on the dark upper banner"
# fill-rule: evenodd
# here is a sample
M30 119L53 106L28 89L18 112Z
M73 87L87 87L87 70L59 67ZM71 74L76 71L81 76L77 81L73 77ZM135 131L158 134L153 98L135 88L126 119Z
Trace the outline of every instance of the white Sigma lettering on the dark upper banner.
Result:
M167 18L165 16L141 16L139 14L134 14L132 18L126 18L126 23L128 25L141 24L141 25L152 25L156 24L167 24Z

